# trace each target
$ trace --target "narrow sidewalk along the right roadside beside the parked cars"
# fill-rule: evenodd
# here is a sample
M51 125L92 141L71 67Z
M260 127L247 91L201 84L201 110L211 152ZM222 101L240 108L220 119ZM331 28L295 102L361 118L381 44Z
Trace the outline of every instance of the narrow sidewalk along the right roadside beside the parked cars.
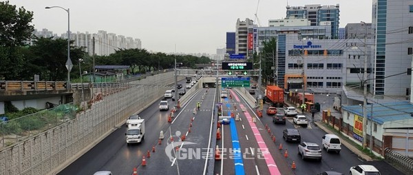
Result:
M286 103L286 105L288 105L288 106L296 107L295 105L293 105L293 103L290 103L288 101L286 101L284 103ZM296 107L296 109L297 109L297 112L299 114L302 114L302 111L299 107ZM307 119L311 119L311 113L310 112L304 112L304 115L307 117ZM335 113L335 116L341 116L341 113L337 112L337 113ZM322 119L321 112L317 112L317 113L315 113L314 121L310 121L310 122L313 122L314 125L319 127L321 130L324 130L324 132L327 132L327 134L335 134L332 130L330 130L329 127L327 127L326 123L321 121L321 119ZM352 145L352 143L347 141L348 138L344 138L343 135L341 135L341 134L338 134L337 136L339 136L339 138L341 138L340 139L341 143L344 146L346 146L348 148L348 150L354 152L354 154L357 154L357 156L359 156L360 158L362 158L365 161L373 161L373 159L370 156L368 156L367 154L364 154L363 152L361 152L361 150L357 149L357 147Z

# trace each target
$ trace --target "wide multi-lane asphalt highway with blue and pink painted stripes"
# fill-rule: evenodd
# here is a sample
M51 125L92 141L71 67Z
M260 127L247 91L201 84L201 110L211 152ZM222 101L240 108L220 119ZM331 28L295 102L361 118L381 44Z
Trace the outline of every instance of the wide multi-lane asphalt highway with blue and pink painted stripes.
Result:
M319 145L321 136L326 132L313 123L308 127L299 127L290 118L286 125L275 125L265 112L262 118L257 117L256 109L245 101L245 96L249 94L241 94L235 89L227 91L231 97L220 98L221 91L217 92L214 88L195 91L190 94L189 101L173 114L171 122L168 122L171 110L159 111L158 103L153 103L139 114L146 123L145 140L142 143L128 146L125 143L127 127L115 128L112 134L60 174L93 174L98 170L131 174L134 167L138 174L318 174L326 170L347 174L351 166L360 164L376 165L382 174L401 174L383 161L364 162L344 146L339 154L323 150L321 162L301 160L297 154L298 143L284 141L282 130L297 128L302 141ZM198 102L201 103L200 110L196 110ZM169 103L173 105L171 100ZM231 116L233 113L240 120L235 121L234 117L230 124L222 125L222 138L215 143L217 104L222 106L222 116ZM264 110L266 107L264 105ZM165 137L161 144L158 142L160 131ZM275 141L271 134L275 136ZM184 141L182 136L185 137ZM215 160L216 145L220 148L221 160ZM147 157L148 151L150 157ZM286 151L287 157L284 156ZM146 165L142 165L143 156ZM296 169L291 168L293 161ZM211 164L213 169L209 168Z

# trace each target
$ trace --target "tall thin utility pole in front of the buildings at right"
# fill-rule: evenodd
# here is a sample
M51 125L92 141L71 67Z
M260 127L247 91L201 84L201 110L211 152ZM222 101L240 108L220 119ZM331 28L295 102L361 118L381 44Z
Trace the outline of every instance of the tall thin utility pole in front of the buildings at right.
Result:
M367 136L367 25L365 22L364 28L366 29L366 33L364 35L364 71L363 71L363 149L367 147L366 144L366 136ZM371 142L371 141L370 141Z

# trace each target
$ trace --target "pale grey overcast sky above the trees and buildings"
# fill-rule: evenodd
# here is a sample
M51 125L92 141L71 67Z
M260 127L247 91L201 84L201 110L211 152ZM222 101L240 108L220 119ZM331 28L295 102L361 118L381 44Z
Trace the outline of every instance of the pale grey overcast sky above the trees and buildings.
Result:
M34 12L34 28L59 36L67 31L67 13L46 6L70 8L72 32L108 33L138 38L153 52L208 53L225 48L226 32L235 32L239 18L255 19L257 0L10 0ZM340 5L340 27L371 22L372 0L289 0L289 6ZM268 19L286 17L286 0L261 0L257 16L262 26Z

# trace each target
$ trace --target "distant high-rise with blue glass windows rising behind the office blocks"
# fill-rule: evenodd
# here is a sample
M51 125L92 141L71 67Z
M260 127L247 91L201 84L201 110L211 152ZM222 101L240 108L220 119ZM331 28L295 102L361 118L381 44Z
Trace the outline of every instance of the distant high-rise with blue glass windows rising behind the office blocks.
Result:
M320 4L302 6L286 6L288 19L301 18L308 19L310 25L321 25L322 22L330 21L331 36L333 39L339 37L339 4L330 6L321 6Z

